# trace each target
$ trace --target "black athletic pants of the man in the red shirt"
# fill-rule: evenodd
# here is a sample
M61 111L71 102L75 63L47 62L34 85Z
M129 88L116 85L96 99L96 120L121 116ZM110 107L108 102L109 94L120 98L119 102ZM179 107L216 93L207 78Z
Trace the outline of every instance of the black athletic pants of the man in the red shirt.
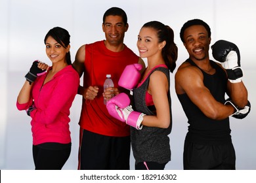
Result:
M80 130L79 165L81 170L129 170L131 140Z

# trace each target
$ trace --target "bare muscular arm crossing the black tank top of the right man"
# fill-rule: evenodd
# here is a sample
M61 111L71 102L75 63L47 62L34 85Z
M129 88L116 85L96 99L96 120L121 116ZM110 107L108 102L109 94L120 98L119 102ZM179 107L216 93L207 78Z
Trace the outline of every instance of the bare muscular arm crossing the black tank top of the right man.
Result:
M177 94L186 93L192 103L213 120L223 120L234 112L230 105L223 105L215 100L211 92L203 84L203 75L196 67L184 65L175 75Z

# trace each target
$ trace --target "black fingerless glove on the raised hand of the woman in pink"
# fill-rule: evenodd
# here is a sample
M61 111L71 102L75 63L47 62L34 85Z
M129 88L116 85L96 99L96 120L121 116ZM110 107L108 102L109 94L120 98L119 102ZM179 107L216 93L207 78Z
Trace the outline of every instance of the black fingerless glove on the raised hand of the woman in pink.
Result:
M37 76L41 76L47 73L45 69L42 70L37 67L38 63L39 63L38 60L33 61L33 64L30 67L30 71L25 76L26 80L28 80L30 84L32 84L32 82L35 82L35 79L37 78Z

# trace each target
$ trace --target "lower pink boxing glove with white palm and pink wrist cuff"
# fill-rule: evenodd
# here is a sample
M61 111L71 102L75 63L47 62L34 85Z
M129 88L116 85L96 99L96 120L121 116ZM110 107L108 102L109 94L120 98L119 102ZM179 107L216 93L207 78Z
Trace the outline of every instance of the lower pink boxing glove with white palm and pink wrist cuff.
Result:
M143 121L143 116L146 114L133 111L133 108L129 105L130 99L127 94L119 93L106 104L108 113L120 120L121 122L126 122L127 125L131 125L136 129L142 129L141 125Z

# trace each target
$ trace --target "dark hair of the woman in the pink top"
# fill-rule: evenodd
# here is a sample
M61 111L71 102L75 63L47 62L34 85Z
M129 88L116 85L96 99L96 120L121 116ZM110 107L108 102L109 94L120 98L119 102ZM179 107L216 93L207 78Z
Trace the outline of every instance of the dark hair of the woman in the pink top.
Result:
M70 33L68 33L68 31L66 29L63 29L62 27L54 27L53 29L49 30L47 35L45 35L45 44L49 36L53 37L53 39L55 39L64 48L66 48L68 44L70 44ZM66 61L68 65L72 64L70 52L66 54Z

